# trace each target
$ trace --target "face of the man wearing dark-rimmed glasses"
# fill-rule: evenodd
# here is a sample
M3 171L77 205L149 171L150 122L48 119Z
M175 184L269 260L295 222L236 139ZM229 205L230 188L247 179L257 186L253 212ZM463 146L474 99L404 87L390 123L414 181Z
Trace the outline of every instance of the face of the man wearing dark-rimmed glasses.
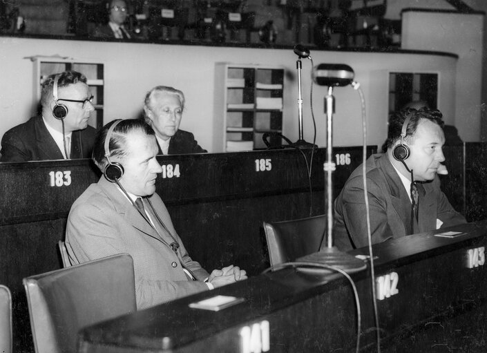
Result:
M95 108L91 102L67 102L62 99L84 101L90 96L90 89L88 85L83 82L68 84L68 86L58 88L57 98L59 99L59 104L64 104L66 108L68 108L68 115L64 118L64 128L66 132L86 128L86 126L88 126L88 120L90 120L90 113L94 111ZM54 102L52 102L52 107L53 106Z

